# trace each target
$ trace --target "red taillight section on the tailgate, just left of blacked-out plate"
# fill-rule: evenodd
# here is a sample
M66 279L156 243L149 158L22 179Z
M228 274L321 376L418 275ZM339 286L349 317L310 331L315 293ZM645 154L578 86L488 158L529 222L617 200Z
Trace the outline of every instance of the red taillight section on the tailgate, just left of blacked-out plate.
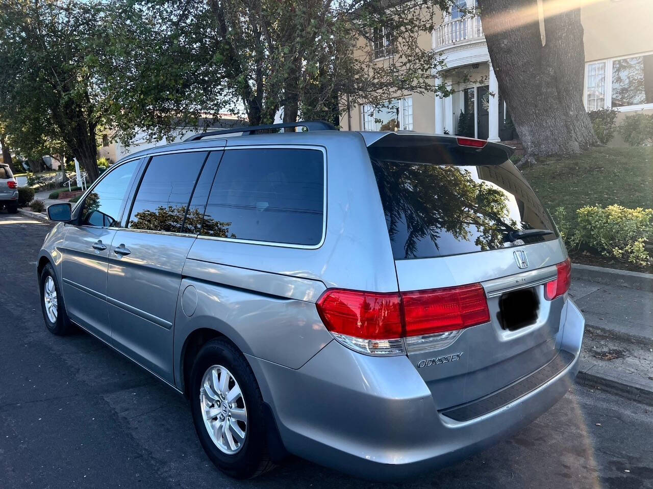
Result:
M444 333L490 321L481 284L402 293L406 336Z

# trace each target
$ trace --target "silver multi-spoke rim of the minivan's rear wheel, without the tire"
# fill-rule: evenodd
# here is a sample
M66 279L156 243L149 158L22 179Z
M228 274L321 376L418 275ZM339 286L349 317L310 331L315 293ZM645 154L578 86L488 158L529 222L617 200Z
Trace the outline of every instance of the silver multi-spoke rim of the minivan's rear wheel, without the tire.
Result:
M227 368L214 365L204 372L200 408L215 446L229 455L240 451L247 436L247 408L240 385Z

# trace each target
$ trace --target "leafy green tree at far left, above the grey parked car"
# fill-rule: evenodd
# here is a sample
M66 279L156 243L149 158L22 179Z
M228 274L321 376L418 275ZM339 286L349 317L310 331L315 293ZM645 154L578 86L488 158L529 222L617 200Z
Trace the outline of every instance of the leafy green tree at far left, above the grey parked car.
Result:
M99 0L4 0L0 10L8 137L22 153L71 153L90 181L99 175L97 129L116 117L98 69L119 42L112 11Z

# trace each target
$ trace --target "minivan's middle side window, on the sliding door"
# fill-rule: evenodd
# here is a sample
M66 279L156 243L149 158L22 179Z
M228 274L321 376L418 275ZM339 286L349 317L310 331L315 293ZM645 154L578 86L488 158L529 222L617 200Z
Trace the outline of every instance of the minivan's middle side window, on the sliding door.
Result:
M180 233L206 155L204 152L153 156L138 186L127 227Z

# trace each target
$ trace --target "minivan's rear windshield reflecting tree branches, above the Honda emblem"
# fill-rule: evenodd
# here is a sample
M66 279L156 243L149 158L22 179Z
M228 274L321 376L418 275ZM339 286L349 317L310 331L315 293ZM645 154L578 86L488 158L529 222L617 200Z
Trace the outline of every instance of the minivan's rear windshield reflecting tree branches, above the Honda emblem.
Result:
M431 258L541 243L558 237L515 165L437 165L370 158L394 259ZM515 240L517 230L549 230Z

